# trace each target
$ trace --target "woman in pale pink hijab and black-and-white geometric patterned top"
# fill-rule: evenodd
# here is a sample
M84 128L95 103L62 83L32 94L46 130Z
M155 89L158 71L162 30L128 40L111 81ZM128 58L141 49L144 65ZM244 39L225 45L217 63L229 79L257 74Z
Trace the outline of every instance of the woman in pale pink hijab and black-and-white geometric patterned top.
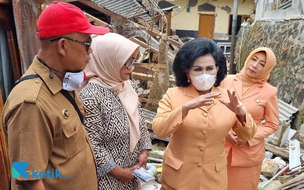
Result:
M139 45L116 33L92 35L87 84L80 92L95 150L99 189L141 189L131 173L151 149L144 115L129 80Z

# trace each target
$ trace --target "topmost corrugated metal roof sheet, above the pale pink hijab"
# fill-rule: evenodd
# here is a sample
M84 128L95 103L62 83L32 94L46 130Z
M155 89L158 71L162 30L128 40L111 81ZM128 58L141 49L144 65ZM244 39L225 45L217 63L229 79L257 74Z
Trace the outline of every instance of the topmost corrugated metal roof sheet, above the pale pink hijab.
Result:
M90 0L92 3L103 7L112 13L124 18L141 17L148 24L152 25L151 18L146 14L146 10L135 0ZM155 25L155 27L157 27Z

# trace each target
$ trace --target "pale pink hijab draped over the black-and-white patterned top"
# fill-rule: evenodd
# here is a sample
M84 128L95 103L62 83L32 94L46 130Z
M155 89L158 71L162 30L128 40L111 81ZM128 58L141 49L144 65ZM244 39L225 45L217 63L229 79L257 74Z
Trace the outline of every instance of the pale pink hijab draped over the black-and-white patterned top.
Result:
M112 91L120 91L118 97L128 116L129 149L132 152L140 138L138 96L131 83L120 78L120 69L131 55L137 56L139 45L117 33L106 33L92 35L91 47L91 60L85 69L87 83L97 83Z

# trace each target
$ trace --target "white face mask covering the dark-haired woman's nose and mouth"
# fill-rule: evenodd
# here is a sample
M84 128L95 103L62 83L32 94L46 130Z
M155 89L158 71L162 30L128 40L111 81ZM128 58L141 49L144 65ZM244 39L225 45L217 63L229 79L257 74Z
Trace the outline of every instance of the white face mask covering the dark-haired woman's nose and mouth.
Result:
M200 76L194 77L193 75L190 75L191 82L193 86L200 91L206 91L212 88L212 86L215 83L215 77L216 74L210 75L210 74L202 74Z

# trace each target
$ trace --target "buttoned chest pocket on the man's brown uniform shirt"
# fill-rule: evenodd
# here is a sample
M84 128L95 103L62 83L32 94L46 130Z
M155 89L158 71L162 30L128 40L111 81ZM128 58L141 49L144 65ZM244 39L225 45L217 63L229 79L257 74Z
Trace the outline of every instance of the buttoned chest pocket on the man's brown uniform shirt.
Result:
M63 143L67 158L72 158L86 145L86 138L81 130L82 124L74 115L70 122L63 127Z

